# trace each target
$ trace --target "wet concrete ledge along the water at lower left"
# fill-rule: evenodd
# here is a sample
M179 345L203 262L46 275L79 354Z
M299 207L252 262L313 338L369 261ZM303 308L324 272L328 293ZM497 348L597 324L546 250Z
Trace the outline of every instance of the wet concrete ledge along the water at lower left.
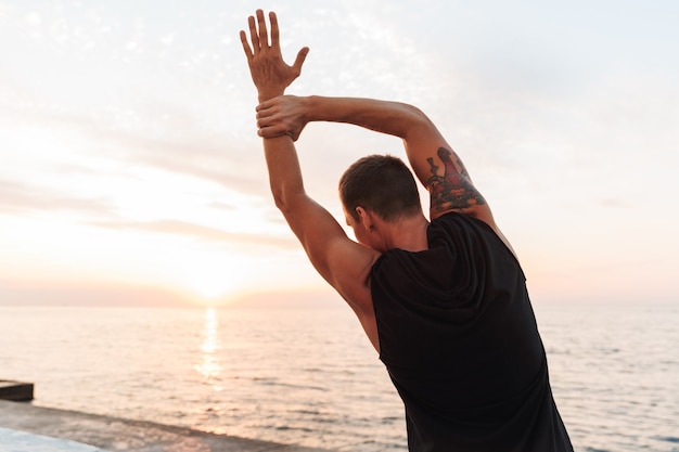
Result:
M0 400L0 427L90 444L111 452L329 452ZM3 449L4 450L4 449Z

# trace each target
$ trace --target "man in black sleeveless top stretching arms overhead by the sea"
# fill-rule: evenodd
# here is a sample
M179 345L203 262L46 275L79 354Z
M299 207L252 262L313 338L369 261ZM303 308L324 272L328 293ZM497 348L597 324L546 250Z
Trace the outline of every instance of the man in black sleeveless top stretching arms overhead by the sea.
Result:
M573 451L554 404L525 277L459 156L419 109L367 99L285 96L292 66L264 12L241 41L258 90L259 135L276 205L311 263L348 302L406 405L410 451ZM252 42L252 47L251 47ZM403 140L431 193L394 157L369 156L340 194L358 243L305 192L294 146L309 121Z

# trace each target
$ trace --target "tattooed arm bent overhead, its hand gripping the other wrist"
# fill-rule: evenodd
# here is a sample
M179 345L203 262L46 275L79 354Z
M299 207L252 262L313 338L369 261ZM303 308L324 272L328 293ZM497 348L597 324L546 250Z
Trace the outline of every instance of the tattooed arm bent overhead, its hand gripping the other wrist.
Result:
M490 208L460 157L419 108L398 102L350 98L280 96L258 106L261 137L296 140L310 121L348 122L401 138L410 166L431 195L430 216L459 211L496 228Z

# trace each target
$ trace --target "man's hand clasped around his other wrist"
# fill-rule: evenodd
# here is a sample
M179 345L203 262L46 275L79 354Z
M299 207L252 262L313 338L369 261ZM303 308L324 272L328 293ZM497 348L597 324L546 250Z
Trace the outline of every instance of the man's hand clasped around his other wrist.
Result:
M280 95L257 105L257 134L261 138L290 135L297 141L307 125L307 98Z

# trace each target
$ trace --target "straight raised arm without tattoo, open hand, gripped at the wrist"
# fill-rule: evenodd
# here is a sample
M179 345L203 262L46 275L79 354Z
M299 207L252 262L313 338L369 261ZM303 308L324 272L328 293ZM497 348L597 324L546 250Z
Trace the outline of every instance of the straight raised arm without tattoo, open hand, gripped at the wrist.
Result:
M270 43L264 13L258 10L256 15L256 21L252 16L248 18L252 48L245 31L241 31L241 41L253 81L262 101L282 94L299 75L308 49L299 51L293 66L286 65L279 47L276 14L269 15ZM265 137L264 151L277 207L302 243L313 267L350 305L371 343L379 349L369 286L370 269L379 253L347 237L334 217L307 195L291 137Z

